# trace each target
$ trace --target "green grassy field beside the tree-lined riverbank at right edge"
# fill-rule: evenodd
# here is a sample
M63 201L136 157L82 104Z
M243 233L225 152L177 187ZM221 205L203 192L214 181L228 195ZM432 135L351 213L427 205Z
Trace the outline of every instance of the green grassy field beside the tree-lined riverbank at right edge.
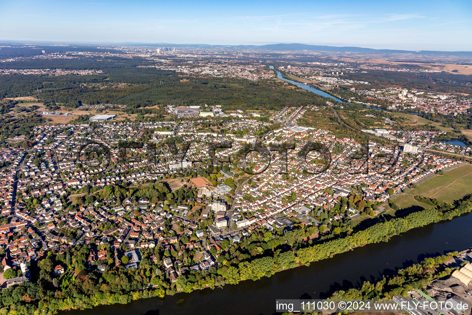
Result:
M468 194L472 194L472 165L464 164L446 171L443 176L434 175L418 184L418 187L408 190L408 194L401 194L393 201L401 208L414 205L429 208L430 204L417 202L413 196L436 198L452 204Z

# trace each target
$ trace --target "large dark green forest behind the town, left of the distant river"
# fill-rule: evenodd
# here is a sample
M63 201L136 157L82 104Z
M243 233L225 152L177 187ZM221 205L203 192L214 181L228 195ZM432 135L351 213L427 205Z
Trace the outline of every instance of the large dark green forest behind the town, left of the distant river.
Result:
M106 61L106 62L105 62ZM143 59L102 57L100 60L38 59L11 61L1 68L62 68L102 70L96 75L1 75L0 99L34 96L69 108L82 104L121 104L126 109L159 105L222 105L223 110L279 110L284 106L322 100L302 89L278 86L270 80L193 77L156 68L136 68ZM184 79L189 79L188 81Z

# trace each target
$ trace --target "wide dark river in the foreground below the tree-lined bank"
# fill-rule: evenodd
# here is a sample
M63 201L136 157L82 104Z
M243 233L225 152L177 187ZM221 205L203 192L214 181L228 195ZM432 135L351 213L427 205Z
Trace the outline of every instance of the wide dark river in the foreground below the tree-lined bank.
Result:
M472 213L451 221L430 224L394 236L387 243L354 248L333 258L278 272L258 281L242 281L223 289L177 293L166 298L145 298L129 304L97 306L61 315L271 315L275 300L325 298L333 290L360 286L383 273L410 266L427 256L472 247ZM316 291L316 293L314 293ZM181 303L177 301L181 300ZM183 301L182 301L183 300Z

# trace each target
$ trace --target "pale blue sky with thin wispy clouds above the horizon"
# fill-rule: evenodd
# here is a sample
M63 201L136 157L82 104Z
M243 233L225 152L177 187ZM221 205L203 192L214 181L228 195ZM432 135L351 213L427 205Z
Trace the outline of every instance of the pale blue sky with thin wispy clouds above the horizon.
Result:
M0 0L0 40L472 51L471 0Z

